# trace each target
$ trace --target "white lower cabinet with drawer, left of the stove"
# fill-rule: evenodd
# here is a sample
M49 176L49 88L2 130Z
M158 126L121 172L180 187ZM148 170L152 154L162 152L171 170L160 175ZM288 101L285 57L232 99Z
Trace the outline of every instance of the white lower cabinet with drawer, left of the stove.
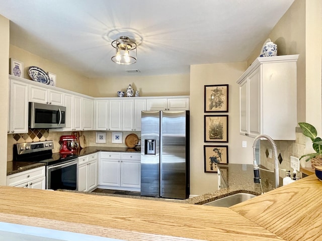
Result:
M37 167L7 176L7 185L34 189L46 188L45 167Z

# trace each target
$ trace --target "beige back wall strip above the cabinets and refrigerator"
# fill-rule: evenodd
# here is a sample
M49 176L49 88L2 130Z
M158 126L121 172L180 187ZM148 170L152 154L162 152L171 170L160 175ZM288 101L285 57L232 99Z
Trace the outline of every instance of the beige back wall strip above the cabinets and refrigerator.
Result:
M135 74L131 74L135 75ZM93 97L116 97L117 91L126 91L129 84L139 90L140 96L189 95L190 75L127 76L91 79Z

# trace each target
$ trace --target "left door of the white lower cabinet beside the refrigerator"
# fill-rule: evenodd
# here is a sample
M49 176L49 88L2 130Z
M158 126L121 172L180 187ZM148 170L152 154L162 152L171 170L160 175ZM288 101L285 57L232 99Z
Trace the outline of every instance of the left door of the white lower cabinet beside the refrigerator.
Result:
M120 160L101 159L100 185L120 186Z

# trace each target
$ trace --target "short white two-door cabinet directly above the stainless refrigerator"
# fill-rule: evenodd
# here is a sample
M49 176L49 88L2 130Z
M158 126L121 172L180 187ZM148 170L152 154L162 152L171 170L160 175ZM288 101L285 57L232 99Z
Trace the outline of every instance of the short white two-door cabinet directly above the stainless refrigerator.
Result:
M146 110L189 110L189 98L148 98Z

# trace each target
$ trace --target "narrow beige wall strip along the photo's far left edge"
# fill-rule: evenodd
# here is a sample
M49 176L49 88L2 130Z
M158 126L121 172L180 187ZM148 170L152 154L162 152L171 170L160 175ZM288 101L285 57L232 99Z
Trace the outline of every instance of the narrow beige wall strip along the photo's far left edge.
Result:
M9 20L0 16L0 185L7 182L7 131L9 98Z

